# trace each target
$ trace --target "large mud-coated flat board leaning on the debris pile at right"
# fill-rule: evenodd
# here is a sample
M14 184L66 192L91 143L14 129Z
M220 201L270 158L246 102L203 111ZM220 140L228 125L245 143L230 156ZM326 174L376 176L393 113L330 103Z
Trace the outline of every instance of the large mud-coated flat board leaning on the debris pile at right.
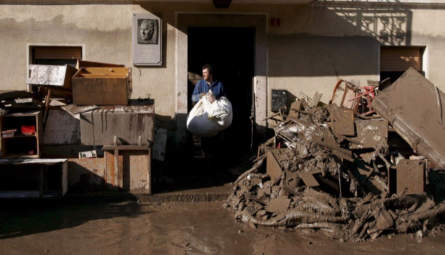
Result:
M374 110L435 167L445 167L444 105L445 94L412 67L373 101Z

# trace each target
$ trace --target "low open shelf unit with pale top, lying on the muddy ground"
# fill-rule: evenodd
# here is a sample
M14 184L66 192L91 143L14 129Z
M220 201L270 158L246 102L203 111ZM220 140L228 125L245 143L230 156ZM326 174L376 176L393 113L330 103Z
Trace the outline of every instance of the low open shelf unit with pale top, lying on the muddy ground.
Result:
M61 198L67 159L0 159L0 198Z

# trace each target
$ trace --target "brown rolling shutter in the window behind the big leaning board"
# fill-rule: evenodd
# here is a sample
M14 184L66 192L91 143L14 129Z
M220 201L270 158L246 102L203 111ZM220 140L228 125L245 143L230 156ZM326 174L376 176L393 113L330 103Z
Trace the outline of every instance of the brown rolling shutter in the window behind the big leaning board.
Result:
M422 72L422 52L422 47L380 47L380 72L404 72L410 66Z

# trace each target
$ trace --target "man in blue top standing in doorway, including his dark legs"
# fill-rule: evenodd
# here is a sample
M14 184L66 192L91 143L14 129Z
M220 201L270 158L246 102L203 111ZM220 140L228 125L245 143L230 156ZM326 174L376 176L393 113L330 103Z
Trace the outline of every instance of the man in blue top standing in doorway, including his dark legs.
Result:
M192 102L194 102L194 105L200 101L202 97L205 96L210 104L214 104L216 100L220 99L221 97L226 97L226 91L225 87L222 82L218 80L213 79L213 66L210 64L205 64L202 67L202 77L203 80L200 80L196 86L195 90L192 94ZM211 91L210 93L208 93ZM228 100L227 100L228 101ZM230 104L230 103L229 103ZM230 109L231 110L231 109ZM192 110L193 111L193 110ZM192 112L191 112L192 113ZM231 122L231 120L230 120ZM190 121L187 121L187 125L190 124ZM193 124L192 124L193 125ZM202 125L204 126L204 125ZM205 130L207 127L202 127L203 130ZM195 128L196 129L196 128ZM189 130L193 132L193 128L190 128ZM215 135L208 136L208 135L202 135L200 133L196 133L196 135L201 137L201 148L204 152L205 158L210 163L210 166L213 167L220 167L221 163L223 162L223 153L222 153L222 143L223 143L223 133L221 131L217 132Z

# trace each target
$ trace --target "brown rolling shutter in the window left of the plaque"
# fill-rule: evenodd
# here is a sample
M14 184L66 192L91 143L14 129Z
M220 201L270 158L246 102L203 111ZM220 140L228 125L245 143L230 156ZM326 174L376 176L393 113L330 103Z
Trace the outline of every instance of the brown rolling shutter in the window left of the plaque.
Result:
M33 59L82 59L82 47L34 47Z

